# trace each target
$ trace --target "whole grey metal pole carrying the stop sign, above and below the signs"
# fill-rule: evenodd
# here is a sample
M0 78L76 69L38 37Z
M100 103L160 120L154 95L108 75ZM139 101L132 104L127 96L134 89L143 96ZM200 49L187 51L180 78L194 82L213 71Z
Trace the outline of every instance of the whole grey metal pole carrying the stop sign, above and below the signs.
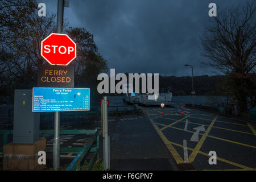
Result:
M57 33L60 34L63 26L64 0L58 0ZM53 169L60 168L60 113L54 113L54 141L53 141Z

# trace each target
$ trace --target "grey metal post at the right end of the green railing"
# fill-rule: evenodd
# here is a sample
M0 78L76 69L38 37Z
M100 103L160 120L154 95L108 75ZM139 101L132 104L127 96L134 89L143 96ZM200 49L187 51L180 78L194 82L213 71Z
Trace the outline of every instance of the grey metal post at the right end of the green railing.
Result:
M108 171L110 169L110 158L109 158L109 136L108 136L108 100L107 97L104 96L104 155L105 155L105 170Z

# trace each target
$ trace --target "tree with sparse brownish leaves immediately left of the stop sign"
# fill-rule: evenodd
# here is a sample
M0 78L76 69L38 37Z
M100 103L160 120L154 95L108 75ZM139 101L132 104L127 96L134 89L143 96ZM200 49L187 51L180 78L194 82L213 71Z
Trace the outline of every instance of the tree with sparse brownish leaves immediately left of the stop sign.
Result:
M13 88L30 89L36 86L36 71L38 65L43 63L40 42L55 31L55 17L52 14L40 18L34 7L34 13L23 22L23 26L15 29L12 25L7 27L10 38L5 38L1 45L2 51L8 56L0 63L7 68L5 75L11 80Z

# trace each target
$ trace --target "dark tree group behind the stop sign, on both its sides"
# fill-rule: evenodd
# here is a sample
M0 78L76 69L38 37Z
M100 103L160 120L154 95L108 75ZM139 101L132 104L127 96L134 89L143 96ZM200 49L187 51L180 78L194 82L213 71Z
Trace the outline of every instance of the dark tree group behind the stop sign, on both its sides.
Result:
M37 8L35 0L0 1L2 103L13 102L14 89L35 87L38 65L48 64L40 55L40 42L52 32L56 32L56 15L47 14L46 17L39 17ZM98 52L93 35L84 28L68 27L67 21L64 21L63 33L67 33L77 43L77 58L71 63L76 68L75 85L94 88L97 76L94 80L92 76L107 66ZM89 76L92 79L89 79Z

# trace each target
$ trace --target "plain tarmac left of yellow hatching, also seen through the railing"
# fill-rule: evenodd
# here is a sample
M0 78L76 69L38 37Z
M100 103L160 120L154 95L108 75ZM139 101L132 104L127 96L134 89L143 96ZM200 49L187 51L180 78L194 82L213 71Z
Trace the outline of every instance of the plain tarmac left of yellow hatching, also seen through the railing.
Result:
M174 170L175 164L164 143L155 132L146 115L120 115L109 117L110 169L111 170ZM100 121L92 121L100 126ZM92 125L92 122L89 125ZM68 123L62 129L74 129ZM71 126L71 127L70 127ZM81 125L80 125L81 126ZM79 128L81 129L81 127ZM82 126L86 128L86 123ZM91 129L91 128L90 128ZM47 147L52 147L53 136L47 138ZM60 147L82 147L89 142L90 135L61 135ZM100 140L100 159L102 156ZM61 152L60 165L69 164L77 152ZM90 155L86 156L90 159ZM52 166L52 153L47 154L47 167Z

